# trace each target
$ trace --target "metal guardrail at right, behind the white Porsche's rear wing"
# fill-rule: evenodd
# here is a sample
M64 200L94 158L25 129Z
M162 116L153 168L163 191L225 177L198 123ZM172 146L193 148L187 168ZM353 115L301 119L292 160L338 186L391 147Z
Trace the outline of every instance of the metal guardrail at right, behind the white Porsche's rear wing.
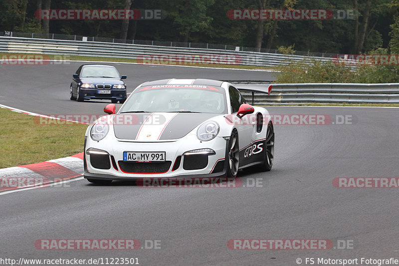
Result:
M399 83L361 84L361 83L300 83L271 84L270 95L266 92L268 84L238 84L245 99L251 101L253 89L257 104L290 103L399 103Z

